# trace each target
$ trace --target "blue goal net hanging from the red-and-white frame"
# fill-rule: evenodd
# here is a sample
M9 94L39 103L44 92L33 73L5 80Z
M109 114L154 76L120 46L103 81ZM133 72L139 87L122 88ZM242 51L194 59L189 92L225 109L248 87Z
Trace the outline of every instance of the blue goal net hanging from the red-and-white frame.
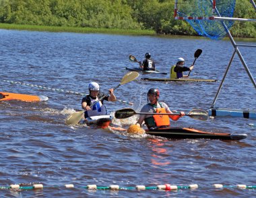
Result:
M174 17L186 20L199 35L220 40L226 36L226 28L234 24L235 5L236 0L176 0ZM216 20L218 17L226 18L226 26L223 20Z

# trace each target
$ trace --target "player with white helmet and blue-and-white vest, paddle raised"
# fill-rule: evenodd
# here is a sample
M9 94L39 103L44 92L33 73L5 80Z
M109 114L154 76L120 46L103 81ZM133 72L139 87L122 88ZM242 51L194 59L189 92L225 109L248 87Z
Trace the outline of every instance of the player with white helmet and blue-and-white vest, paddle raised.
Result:
M100 86L96 82L91 82L88 89L90 94L82 98L82 108L86 110L84 112L85 118L106 114L106 106L104 106L103 101L106 100L115 102L117 100L116 96L114 95L114 90L110 89L108 90L110 93L109 96L104 97L101 101L97 102L90 108L90 105L98 101L99 98L104 96L104 94L100 93Z

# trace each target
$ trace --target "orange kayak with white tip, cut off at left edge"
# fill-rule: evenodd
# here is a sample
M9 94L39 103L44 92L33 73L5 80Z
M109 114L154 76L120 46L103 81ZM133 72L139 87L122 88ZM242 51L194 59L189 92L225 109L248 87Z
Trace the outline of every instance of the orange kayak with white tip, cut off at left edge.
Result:
M48 100L48 97L0 92L0 101L4 101L4 100L22 100L24 102L40 102L40 101Z

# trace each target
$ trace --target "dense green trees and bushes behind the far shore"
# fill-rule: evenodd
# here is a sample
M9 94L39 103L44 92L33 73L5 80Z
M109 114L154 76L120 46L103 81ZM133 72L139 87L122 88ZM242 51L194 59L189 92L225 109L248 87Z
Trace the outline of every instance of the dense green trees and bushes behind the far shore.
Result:
M0 0L0 23L197 35L187 22L174 20L173 15L174 0ZM236 0L234 17L255 19L256 12L248 0ZM231 32L256 38L256 23L236 22Z

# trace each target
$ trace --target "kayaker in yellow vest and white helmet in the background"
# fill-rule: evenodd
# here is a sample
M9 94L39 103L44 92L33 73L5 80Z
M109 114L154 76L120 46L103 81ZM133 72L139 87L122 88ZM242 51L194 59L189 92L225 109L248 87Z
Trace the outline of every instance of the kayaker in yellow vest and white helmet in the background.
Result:
M190 67L185 67L185 60L183 58L179 58L176 65L172 65L170 67L170 79L177 79L181 77L189 77L187 75L183 75L183 71L191 71L194 68L194 65Z

